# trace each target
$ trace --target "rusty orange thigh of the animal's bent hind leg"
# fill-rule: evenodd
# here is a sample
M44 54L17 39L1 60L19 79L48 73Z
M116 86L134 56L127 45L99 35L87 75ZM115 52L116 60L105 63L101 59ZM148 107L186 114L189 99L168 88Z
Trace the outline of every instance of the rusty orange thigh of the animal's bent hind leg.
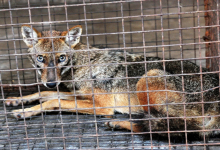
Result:
M161 110L164 109L166 110L165 105L168 103L182 102L181 94L169 91L169 90L174 90L174 91L177 90L175 88L175 83L173 82L174 79L168 80L171 77L166 77L167 80L165 81L165 78L163 77L164 75L166 75L166 72L164 72L163 70L153 69L147 72L147 77L149 78L144 77L138 81L136 86L137 86L137 91L140 92L137 93L137 96L140 104L145 105L143 106L144 111L147 112L148 108L150 108L150 110L155 109L158 112L160 112ZM166 82L166 86L165 86L165 82ZM148 90L149 92L144 92ZM164 91L164 90L168 90L168 91ZM147 106L148 101L150 103L150 106Z

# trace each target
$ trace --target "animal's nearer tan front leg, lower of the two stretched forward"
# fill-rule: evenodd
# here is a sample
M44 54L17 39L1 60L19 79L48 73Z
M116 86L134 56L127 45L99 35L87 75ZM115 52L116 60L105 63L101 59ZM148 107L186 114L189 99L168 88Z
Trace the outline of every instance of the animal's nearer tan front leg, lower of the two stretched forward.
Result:
M113 115L114 108L98 108L98 107L107 107L100 105L99 103L95 103L95 107L93 105L93 100L50 100L42 103L42 105L36 105L31 108L26 109L18 109L14 110L13 116L15 118L27 118L37 114L40 114L42 111L48 110L57 110L60 108L62 111L68 112L79 112L84 114L94 114L96 115ZM109 106L108 106L109 107Z

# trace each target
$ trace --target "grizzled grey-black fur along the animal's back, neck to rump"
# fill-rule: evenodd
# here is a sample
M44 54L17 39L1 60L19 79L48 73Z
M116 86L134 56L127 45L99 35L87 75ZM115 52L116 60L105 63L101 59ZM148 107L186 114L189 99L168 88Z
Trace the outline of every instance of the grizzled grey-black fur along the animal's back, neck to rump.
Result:
M82 44L82 46L85 45ZM201 94L192 94L193 92L208 90L204 92L204 101L209 101L212 96L218 95L218 89L210 90L218 86L217 74L207 74L205 68L201 69L203 73L201 74L200 67L190 61L165 60L163 63L163 60L158 57L144 58L143 55L105 50L90 53L79 51L76 52L73 60L77 62L74 64L77 66L74 72L77 88L91 86L93 83L93 86L107 91L115 87L122 89L130 87L130 91L136 91L136 84L144 74L152 69L165 69L168 76L174 75L168 78L167 82L175 83L177 91L184 90L191 93L186 95L188 101L201 101L201 96L198 96ZM88 79L92 79L93 82L81 82ZM127 85L127 79L129 85Z

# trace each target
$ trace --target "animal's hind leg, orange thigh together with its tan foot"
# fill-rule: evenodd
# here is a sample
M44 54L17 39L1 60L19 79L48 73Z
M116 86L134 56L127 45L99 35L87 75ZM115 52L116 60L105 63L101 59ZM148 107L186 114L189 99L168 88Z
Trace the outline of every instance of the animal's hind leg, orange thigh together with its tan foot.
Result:
M166 106L161 105L161 104L166 104L166 94L167 94L168 100L171 99L171 100L174 100L174 102L181 100L181 96L179 94L158 91L158 90L165 90L165 79L163 77L157 77L157 76L163 76L163 75L165 75L163 70L158 70L158 69L150 70L147 73L148 77L151 76L151 78L147 78L148 89L147 89L146 78L141 78L136 85L136 90L140 91L139 93L137 93L138 101L140 105L144 105L142 106L142 108L145 113L149 111L148 108L150 108L150 110L155 109L158 112L163 111L166 113ZM156 77L153 77L153 76L156 76ZM170 87L174 87L174 86L172 85L172 83L167 83L167 89L172 89ZM152 91L147 92L148 90L154 90L154 92ZM151 105L149 107L148 101L149 101L149 104L158 104L158 105ZM171 111L171 109L169 109L169 112L172 114L175 111ZM138 114L138 111L136 111L136 113ZM138 123L136 122L129 122L129 121L116 121L116 122L112 121L112 122L108 122L106 125L112 128L116 128L116 129L121 129L121 128L124 128L127 130L132 129L134 132L142 131L141 129L143 126L141 124L138 125Z

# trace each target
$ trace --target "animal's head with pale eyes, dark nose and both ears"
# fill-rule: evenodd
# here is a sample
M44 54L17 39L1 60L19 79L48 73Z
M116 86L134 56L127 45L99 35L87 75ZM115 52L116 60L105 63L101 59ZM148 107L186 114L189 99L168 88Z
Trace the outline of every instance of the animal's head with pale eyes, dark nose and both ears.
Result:
M71 67L74 47L79 43L82 27L80 25L68 31L39 32L29 25L21 27L23 41L29 47L29 59L38 69L41 80L48 88L59 85L61 75ZM57 37L60 36L60 37Z

